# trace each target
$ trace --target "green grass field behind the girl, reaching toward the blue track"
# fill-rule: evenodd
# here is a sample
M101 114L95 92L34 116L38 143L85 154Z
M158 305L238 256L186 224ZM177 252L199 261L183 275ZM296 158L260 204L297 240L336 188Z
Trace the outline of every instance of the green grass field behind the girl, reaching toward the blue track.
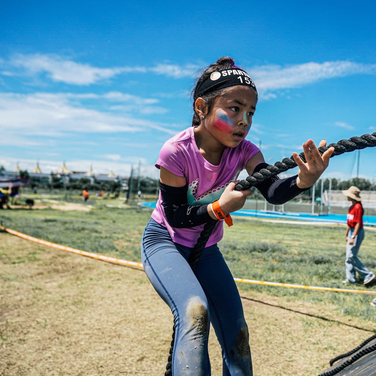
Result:
M34 195L36 202L63 202L61 196ZM23 197L24 198L24 197ZM70 202L81 203L79 196ZM2 225L37 238L89 252L140 261L140 242L150 209L124 205L124 201L89 199L91 211L14 209L0 212ZM122 206L109 208L105 204ZM269 223L234 217L234 226L225 226L220 249L234 277L287 282L323 287L339 287L344 275L344 226ZM359 257L376 271L374 251L376 231L366 229ZM0 255L1 257L1 255ZM23 262L18 259L17 262ZM352 293L307 291L293 288L238 284L240 290L303 300L317 305L334 305L337 313L376 320L373 296ZM365 290L361 281L353 289ZM368 290L376 291L375 287Z

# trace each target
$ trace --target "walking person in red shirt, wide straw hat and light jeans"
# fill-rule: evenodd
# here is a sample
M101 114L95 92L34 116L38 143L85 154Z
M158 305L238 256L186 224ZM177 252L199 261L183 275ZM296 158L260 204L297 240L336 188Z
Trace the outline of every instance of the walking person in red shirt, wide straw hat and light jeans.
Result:
M364 239L363 206L361 204L360 190L352 185L348 190L342 191L342 193L352 203L347 213L347 230L345 235L347 242L345 261L346 280L343 283L356 283L355 273L358 272L364 285L369 285L375 275L358 259L359 248Z

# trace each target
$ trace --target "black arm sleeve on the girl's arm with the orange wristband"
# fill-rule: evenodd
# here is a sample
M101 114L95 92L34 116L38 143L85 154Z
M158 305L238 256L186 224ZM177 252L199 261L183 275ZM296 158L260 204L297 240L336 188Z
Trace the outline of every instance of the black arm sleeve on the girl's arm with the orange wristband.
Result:
M188 205L188 186L159 185L165 216L172 227L183 229L215 221L208 213L208 205Z

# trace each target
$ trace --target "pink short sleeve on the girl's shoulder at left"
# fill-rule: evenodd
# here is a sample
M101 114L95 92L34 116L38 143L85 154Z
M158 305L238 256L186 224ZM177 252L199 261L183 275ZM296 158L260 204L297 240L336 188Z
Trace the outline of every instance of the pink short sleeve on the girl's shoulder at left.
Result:
M164 167L171 173L184 177L184 155L177 143L173 143L171 140L165 142L159 152L159 158L155 167L158 169Z

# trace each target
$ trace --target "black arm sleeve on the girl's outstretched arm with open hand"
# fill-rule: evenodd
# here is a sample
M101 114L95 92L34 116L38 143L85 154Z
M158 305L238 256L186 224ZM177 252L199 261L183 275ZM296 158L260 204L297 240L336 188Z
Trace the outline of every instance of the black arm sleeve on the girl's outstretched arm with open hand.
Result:
M266 168L267 163L260 163L255 167L253 172L259 172L262 168ZM267 202L273 205L282 205L290 201L298 194L309 190L309 188L299 188L296 184L298 176L290 176L286 179L279 179L277 175L265 179L263 182L255 185Z

